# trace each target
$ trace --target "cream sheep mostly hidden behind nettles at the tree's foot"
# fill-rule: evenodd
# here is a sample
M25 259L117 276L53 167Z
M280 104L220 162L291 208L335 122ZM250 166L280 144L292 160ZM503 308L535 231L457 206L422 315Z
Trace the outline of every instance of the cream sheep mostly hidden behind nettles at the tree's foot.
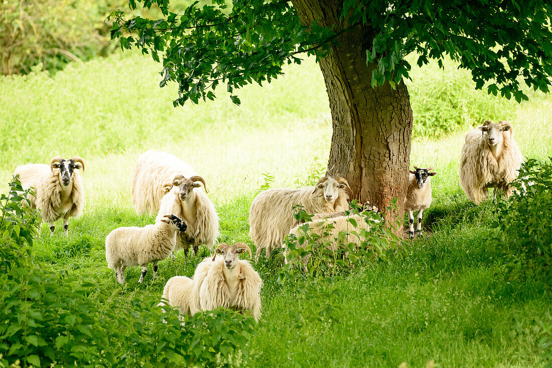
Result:
M376 207L373 207L377 210ZM335 216L339 213L339 216ZM327 248L331 249L333 252L336 252L340 244L349 244L353 243L355 248L358 248L360 244L360 232L362 230L370 231L370 225L365 221L366 216L362 214L348 214L346 211L336 212L336 214L317 214L312 216L310 221L306 223L297 223L294 228L289 231L289 235L295 236L296 239L299 239L300 236L305 235L305 225L308 225L307 234L316 234L317 236L322 237L321 240L326 239L327 236ZM329 217L326 217L329 215ZM357 226L354 226L351 222L353 220L357 223ZM379 223L379 220L374 220L374 222ZM353 231L356 234L352 233ZM345 237L343 239L339 238L339 233L344 232ZM358 234L358 236L357 236ZM288 238L290 241L290 238ZM298 247L299 244L296 244ZM290 250L288 247L285 247L284 251L284 262L288 263L288 255ZM304 264L305 271L307 270L306 265L309 262L310 254L306 255L302 259Z

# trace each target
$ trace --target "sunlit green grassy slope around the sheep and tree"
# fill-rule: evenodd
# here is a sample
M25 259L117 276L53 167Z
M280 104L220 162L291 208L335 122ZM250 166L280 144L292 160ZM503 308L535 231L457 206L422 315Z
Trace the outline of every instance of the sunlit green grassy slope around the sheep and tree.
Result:
M331 122L312 60L288 68L266 87L244 88L240 108L221 94L215 102L174 109L174 89L157 86L159 69L138 56L113 56L70 66L54 79L41 74L0 79L0 90L9 91L0 95L0 182L18 164L49 162L58 154L79 155L86 163L85 214L71 221L68 238L59 228L50 236L44 227L35 243L36 261L45 267L89 274L103 287L119 288L105 265L103 241L115 227L153 219L136 216L130 202L132 167L147 149L193 163L219 210L220 241L249 244L248 208L263 183L261 174L275 176L273 188L293 186L305 182L314 163L326 161ZM415 82L423 72L415 71ZM552 152L551 108L552 99L536 95L517 110L516 139L527 157ZM537 335L514 334L512 319L543 316L550 290L531 280L506 284L495 275L485 242L491 204L470 205L459 190L462 143L463 134L413 141L412 163L439 173L427 211L434 236L406 243L389 264L338 281L339 323L295 328L296 312L317 313L326 298L306 299L279 287L274 270L281 256L256 265L265 286L264 316L250 347L254 364L425 366L432 359L443 367L537 364ZM143 285L136 284L138 269L129 269L124 297L156 303L164 282L192 275L198 261L185 263L179 254L175 263L161 263L158 280L148 275Z

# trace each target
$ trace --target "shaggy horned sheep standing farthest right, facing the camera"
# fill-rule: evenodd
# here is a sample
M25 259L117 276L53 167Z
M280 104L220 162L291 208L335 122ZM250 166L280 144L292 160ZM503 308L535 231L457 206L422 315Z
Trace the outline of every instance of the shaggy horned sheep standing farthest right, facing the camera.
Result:
M486 120L483 125L466 134L460 158L460 186L468 199L479 204L489 193L487 188L512 194L509 185L517 178L523 156L513 139L512 126L507 121Z

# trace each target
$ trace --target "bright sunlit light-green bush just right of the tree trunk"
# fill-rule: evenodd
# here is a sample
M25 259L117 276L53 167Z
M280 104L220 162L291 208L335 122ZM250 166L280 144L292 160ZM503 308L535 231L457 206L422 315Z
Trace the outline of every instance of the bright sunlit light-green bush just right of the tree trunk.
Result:
M424 73L408 83L414 115L412 135L438 137L468 130L484 120L511 120L516 102L476 90L469 72Z

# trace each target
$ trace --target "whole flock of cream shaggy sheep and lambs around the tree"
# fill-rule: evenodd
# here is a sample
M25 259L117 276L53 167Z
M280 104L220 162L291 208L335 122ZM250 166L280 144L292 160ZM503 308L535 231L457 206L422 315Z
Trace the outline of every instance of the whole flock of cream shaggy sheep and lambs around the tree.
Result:
M471 201L479 204L488 194L487 188L512 193L509 185L517 177L522 154L513 140L513 129L507 121L489 120L466 135L460 159L460 185ZM27 164L18 166L24 189L34 187L30 206L41 210L43 222L50 225L63 218L65 234L68 220L82 214L84 190L81 177L84 161L80 157L54 157L50 166ZM410 237L414 235L413 211L418 211L417 232L421 235L422 212L431 205L432 168L410 170L406 211ZM201 186L203 185L203 190ZM359 215L349 215L349 183L342 177L322 177L314 186L300 189L270 189L259 193L251 204L250 237L256 244L256 259L264 249L269 257L272 249L281 248L288 234L299 234L293 216L294 205L301 205L314 214L309 223L312 232L321 232L327 221L333 222L330 237L338 247L339 231L347 229L349 218L357 216L358 226L365 226ZM105 258L121 284L125 269L141 266L139 282L144 280L148 264L157 265L179 249L186 258L189 248L197 254L199 246L213 249L219 236L219 217L206 195L205 180L193 168L172 154L150 150L138 159L132 177L132 204L137 213L156 214L155 223L145 227L116 228L105 238ZM329 220L328 220L329 219ZM365 226L366 230L369 227ZM347 237L358 245L358 238ZM174 276L164 287L162 300L184 314L208 311L218 307L249 313L258 320L261 313L262 280L247 260L238 255L251 249L245 243L221 243L213 257L205 258L195 269L193 278Z

